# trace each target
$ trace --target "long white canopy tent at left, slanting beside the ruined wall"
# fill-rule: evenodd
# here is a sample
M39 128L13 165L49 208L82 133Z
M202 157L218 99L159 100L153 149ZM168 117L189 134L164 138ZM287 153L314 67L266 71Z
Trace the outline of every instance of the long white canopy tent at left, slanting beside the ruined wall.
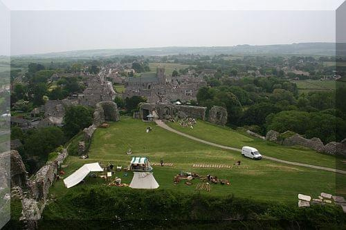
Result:
M69 189L76 184L79 184L90 172L103 172L103 169L97 162L84 164L82 167L80 167L80 169L64 179L65 186Z

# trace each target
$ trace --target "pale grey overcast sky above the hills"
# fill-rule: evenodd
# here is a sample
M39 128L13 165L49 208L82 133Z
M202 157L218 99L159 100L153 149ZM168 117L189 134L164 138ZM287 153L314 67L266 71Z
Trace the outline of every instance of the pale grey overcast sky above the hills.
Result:
M228 10L229 8L220 8L216 4L215 6L224 11L208 11L205 8L203 11L186 8L165 11L157 10L157 7L154 8L156 11L147 8L129 11L126 10L129 5L122 1L124 6L120 9L125 10L113 11L111 4L106 5L109 8L104 8L102 0L98 5L93 2L94 5L82 5L79 11L75 10L77 8L74 8L73 4L60 5L69 6L69 10L61 10L65 8L55 6L53 9L60 9L58 11L44 10L44 5L40 5L41 8L33 8L35 4L27 6L30 6L31 10L25 10L24 2L21 5L12 4L11 55L98 48L235 46L335 41L335 11L333 8L327 8L327 1L322 0L315 2L325 4L323 7L327 10L266 11L257 7L254 9L261 10L244 11ZM310 9L304 8L306 0L300 2L303 9ZM340 0L329 2L335 5L340 3ZM93 6L98 6L103 11L86 11L83 10L83 6L88 6L87 9L95 9ZM281 6L279 9L282 9L285 5L273 3L271 6ZM134 5L134 8L141 9L140 5ZM166 8L167 6L163 7ZM323 9L320 5L315 8Z

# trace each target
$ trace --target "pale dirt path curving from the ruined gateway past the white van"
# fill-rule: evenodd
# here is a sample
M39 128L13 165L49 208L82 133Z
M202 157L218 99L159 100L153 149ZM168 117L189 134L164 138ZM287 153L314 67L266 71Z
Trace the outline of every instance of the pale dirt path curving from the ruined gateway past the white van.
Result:
M173 133L182 135L183 137L188 137L188 138L190 138L192 140L195 140L197 142L201 142L201 143L204 143L204 144L209 144L211 146L215 146L215 147L218 147L218 148L224 148L224 149L229 149L229 150L233 150L233 151L242 152L242 150L240 148L233 148L233 147L223 146L221 144L215 144L215 143L212 143L212 142L208 142L206 140L201 140L201 139L199 139L197 137L192 137L191 135L188 135L186 133L181 133L180 131L177 131L174 128L171 128L170 126L167 126L167 124L165 124L165 122L163 122L163 121L161 121L159 119L155 119L155 122L156 122L156 124L158 126L160 126L161 128L165 128L167 131L171 131ZM324 171L331 171L331 172L334 172L334 173L346 174L346 171L343 171L343 170L340 170L340 169L331 169L331 168L322 167L322 166L316 166L316 165L311 165L311 164L302 164L302 163L298 163L298 162L289 162L287 160L280 160L280 159L277 159L275 157L268 157L266 155L262 155L262 157L264 159L267 159L267 160L273 160L275 162L280 162L280 163L284 163L284 164L292 164L292 165L303 166L303 167L307 167L307 168L311 168L311 169L320 169L320 170L324 170Z

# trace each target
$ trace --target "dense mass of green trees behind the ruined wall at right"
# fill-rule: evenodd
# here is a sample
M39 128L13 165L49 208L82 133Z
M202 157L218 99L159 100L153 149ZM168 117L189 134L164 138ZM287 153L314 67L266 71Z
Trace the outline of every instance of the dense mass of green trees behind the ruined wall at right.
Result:
M200 106L224 106L228 126L246 126L265 135L271 129L293 131L322 142L345 138L343 111L336 108L335 91L312 91L298 95L295 84L280 77L208 79L197 93ZM337 129L338 128L338 129Z

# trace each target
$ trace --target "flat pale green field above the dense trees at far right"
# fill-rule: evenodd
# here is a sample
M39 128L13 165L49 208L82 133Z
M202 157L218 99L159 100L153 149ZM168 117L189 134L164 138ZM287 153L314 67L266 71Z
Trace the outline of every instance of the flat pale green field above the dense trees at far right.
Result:
M330 81L320 81L320 80L299 80L292 81L297 84L299 93L309 93L311 91L326 91L335 90L336 82Z

